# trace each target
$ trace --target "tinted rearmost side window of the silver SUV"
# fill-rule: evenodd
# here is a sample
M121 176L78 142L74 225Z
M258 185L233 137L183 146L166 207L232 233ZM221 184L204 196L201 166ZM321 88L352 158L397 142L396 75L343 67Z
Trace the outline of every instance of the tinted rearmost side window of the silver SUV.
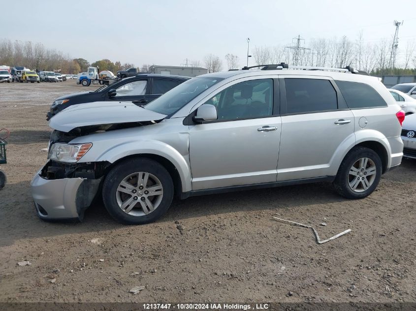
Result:
M350 109L387 107L383 97L370 85L359 82L335 81Z

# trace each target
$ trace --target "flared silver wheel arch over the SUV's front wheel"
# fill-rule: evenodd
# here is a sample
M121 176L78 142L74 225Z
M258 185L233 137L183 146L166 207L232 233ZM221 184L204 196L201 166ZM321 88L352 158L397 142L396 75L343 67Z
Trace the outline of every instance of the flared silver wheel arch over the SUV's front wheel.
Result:
M111 146L111 149L105 150L97 157L96 162L108 161L114 163L127 156L140 154L155 154L169 160L178 170L181 177L182 192L192 190L192 175L189 161L178 150L161 141L127 141L117 146Z

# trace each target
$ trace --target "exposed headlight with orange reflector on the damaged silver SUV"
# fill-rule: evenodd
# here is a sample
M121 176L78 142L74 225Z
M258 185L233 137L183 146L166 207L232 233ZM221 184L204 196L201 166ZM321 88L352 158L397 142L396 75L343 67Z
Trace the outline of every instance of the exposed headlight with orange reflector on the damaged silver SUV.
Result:
M75 163L81 159L92 146L92 143L53 143L49 148L48 158L59 162Z

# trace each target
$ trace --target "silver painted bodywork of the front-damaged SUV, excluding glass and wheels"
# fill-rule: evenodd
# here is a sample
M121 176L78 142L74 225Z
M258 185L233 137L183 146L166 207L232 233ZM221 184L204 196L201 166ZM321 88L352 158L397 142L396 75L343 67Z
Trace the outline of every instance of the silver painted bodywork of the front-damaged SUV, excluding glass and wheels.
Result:
M159 121L91 133L76 137L70 143L93 143L78 163L115 163L128 156L146 154L163 157L178 171L183 193L335 176L348 151L366 141L384 146L387 169L401 162L403 145L395 116L400 107L377 78L322 71L308 71L305 75L305 71L298 70L247 70L205 76L224 80L206 89L169 118L130 102L96 102L71 106L51 118L49 125L68 132L90 125ZM230 85L281 77L366 83L379 92L388 106L184 125L190 113ZM335 124L339 119L351 122ZM263 126L275 130L258 131ZM66 200L74 200L74 193L80 187L79 178L45 180L36 175L32 180L35 202L43 203L54 215L59 215L62 206L68 206L72 215L73 202Z

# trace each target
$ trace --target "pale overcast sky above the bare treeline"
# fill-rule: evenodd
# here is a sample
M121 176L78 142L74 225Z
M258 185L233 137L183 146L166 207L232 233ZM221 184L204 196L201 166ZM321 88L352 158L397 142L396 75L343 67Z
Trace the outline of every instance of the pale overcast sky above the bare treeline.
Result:
M355 40L362 30L376 42L392 38L394 20L404 20L400 53L416 40L414 11L409 0L1 0L0 39L41 42L90 62L179 66L232 53L243 66L247 37L250 47L273 46L300 34L307 45L311 38Z

